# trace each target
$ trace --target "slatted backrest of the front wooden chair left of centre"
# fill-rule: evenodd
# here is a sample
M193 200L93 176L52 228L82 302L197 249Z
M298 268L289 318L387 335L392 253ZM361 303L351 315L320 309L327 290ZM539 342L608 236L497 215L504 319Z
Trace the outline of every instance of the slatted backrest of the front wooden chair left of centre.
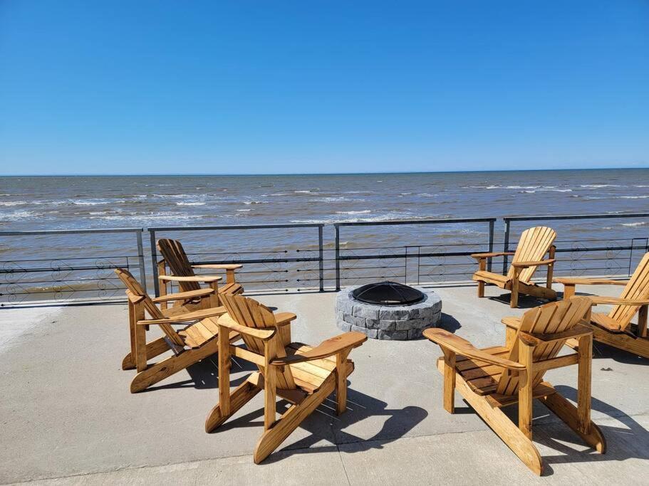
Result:
M268 307L260 304L250 297L243 295L224 294L221 297L222 304L224 305L227 313L237 324L246 327L253 327L256 329L267 329L269 327L276 327L276 319ZM264 348L264 341L256 337L249 336L242 332L241 334L248 351L255 354L264 356L266 349ZM281 342L281 334L278 332L269 341L269 358L283 358L286 356L286 349ZM259 366L261 374L265 374L264 366ZM291 373L290 366L284 366L284 371L276 366L273 366L271 372L275 373L277 387L284 390L296 389L296 384Z

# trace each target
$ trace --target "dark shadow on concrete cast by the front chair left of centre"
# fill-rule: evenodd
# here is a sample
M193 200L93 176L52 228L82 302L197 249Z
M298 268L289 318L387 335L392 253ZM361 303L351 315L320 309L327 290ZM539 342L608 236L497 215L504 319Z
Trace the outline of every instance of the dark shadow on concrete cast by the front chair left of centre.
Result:
M259 435L261 435L264 430L263 400L260 400L259 403L261 408L242 416L235 416L212 433L217 435L224 430L256 427L259 428ZM277 413L284 413L289 408L289 405L284 400L278 401ZM297 442L289 443L284 448L280 446L269 458L264 460L264 464L274 463L286 458L287 455L296 453L308 453L316 450L321 452L335 451L338 450L338 445L341 444L354 443L358 445L355 452L382 448L383 443L403 437L428 416L427 411L417 406L406 406L404 408L387 408L387 406L388 404L384 401L350 388L348 389L347 410L341 416L336 416L335 394L332 394L300 424L298 430L307 430L308 436ZM367 428L371 429L375 425L371 421L373 417L385 417L386 419L380 430L372 435L368 433L369 436L359 437L345 430L354 428L356 424L363 421L368 421ZM290 436L287 440L291 440ZM331 444L309 450L309 448L322 440L326 440Z

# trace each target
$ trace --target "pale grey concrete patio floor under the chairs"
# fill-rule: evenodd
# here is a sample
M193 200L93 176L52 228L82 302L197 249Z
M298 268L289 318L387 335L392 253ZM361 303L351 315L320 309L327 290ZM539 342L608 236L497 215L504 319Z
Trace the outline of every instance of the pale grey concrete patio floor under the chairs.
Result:
M618 295L620 287L597 290ZM509 309L496 287L487 287L488 298L480 300L473 285L435 291L443 301L440 326L479 347L504 343L500 319L524 312ZM340 332L335 296L259 300L296 312L294 340L318 344ZM524 307L536 303L521 299ZM544 477L533 475L457 393L457 413L443 410L434 364L440 349L424 339L370 339L355 349L347 413L337 417L332 408L319 408L276 453L254 465L263 397L207 434L204 418L218 399L214 359L130 394L134 372L120 369L128 352L126 319L122 304L0 310L0 482L635 484L648 470L649 360L602 344L593 359L593 421L608 452L586 448L537 403L534 440L546 461ZM233 384L250 369L233 364ZM576 366L546 376L575 398ZM515 416L516 406L510 408Z

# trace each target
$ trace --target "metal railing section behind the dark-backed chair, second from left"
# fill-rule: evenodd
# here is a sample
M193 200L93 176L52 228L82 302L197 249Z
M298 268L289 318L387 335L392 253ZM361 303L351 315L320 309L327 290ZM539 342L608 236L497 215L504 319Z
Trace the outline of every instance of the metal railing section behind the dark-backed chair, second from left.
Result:
M256 224L256 225L232 225L232 226L157 226L148 228L150 245L151 245L151 263L153 268L153 283L155 287L155 295L160 295L160 286L157 275L157 260L159 257L156 247L156 238L159 233L177 233L182 231L215 231L215 232L233 232L233 231L263 231L263 230L298 230L301 231L305 228L317 228L318 239L317 243L313 243L313 247L300 248L298 243L289 241L284 245L284 248L257 248L254 250L233 250L232 248L224 248L223 251L188 251L187 256L192 259L192 265L198 264L222 264L222 263L241 263L247 265L246 268L237 272L237 275L246 275L244 278L237 277L237 282L244 285L250 284L250 288L257 290L266 289L278 290L278 287L284 287L282 290L288 290L291 282L296 287L303 286L306 282L314 282L317 280L317 287L320 291L324 290L324 258L323 258L323 227L321 223L292 223L292 224ZM276 233L276 232L275 232ZM232 244L231 238L223 237L217 238L216 241L224 242L224 247ZM303 243L299 243L303 244ZM316 246L317 244L317 246ZM290 248L290 249L289 249ZM187 250L187 248L186 248ZM309 256L313 255L313 256ZM194 260L198 258L198 260ZM304 263L317 263L317 278L302 278L302 275L309 272L314 272L315 269L304 268ZM250 267L252 265L252 268ZM277 274L284 274L277 277ZM262 280L259 280L259 274ZM248 278L251 275L255 277ZM268 278L268 276L271 278ZM274 275L274 278L272 277ZM299 276L298 276L299 275ZM247 279L247 280L246 280ZM308 285L308 283L307 283Z

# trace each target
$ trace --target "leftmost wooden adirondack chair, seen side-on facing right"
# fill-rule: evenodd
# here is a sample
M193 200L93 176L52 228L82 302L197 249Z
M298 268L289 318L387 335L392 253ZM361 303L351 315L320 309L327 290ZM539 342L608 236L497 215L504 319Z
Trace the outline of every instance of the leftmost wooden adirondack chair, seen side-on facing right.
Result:
M165 302L162 299L186 301L188 297L194 295L207 295L209 298L212 295L212 289L181 292L152 300L142 289L140 282L137 282L128 270L117 268L115 273L126 286L128 297L131 351L123 359L122 369L137 369L137 374L130 384L131 393L147 389L152 384L218 351L218 339L216 338L219 328L216 319L212 319L212 317L223 315L224 307L207 307L192 311L182 305L168 310L160 310L155 305L156 302ZM149 319L145 317L145 312L150 316ZM187 323L192 324L178 332L172 327L172 324ZM160 326L165 335L147 342L146 331L152 324ZM240 339L237 332L227 332L226 334L229 342ZM149 359L160 356L169 350L173 352L173 356L157 363L147 364Z

